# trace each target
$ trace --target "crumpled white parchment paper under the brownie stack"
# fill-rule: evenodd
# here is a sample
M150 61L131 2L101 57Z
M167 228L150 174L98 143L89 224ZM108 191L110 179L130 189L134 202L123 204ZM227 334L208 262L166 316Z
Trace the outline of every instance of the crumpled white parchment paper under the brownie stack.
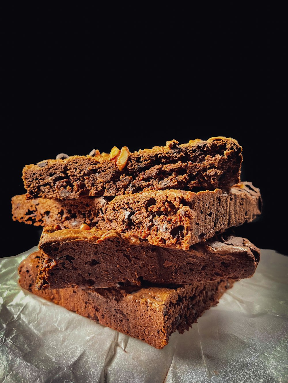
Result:
M262 250L237 282L162 350L18 285L30 252L0 260L0 382L287 382L288 258Z

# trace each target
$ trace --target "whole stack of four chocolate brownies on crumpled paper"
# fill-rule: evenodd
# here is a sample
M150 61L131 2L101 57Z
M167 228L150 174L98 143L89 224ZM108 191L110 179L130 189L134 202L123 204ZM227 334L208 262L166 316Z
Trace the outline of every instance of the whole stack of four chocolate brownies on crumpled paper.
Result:
M227 231L261 210L241 152L212 137L26 165L13 219L44 229L20 285L161 349L255 272L257 247Z

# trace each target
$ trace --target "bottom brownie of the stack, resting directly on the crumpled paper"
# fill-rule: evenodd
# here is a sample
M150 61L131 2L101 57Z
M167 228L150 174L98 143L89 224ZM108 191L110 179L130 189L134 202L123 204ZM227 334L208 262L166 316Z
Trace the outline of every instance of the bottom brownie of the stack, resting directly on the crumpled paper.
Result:
M178 288L36 290L39 261L40 252L35 252L19 265L19 283L24 289L157 349L168 343L172 332L188 330L233 285L233 281L220 280Z

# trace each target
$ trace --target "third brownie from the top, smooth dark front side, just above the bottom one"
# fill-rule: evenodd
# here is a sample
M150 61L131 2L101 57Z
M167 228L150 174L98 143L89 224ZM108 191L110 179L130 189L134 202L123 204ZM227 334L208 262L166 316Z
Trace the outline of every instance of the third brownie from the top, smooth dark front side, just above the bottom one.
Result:
M219 235L180 250L94 229L46 228L39 249L38 289L241 279L253 275L260 258L248 239L235 236Z

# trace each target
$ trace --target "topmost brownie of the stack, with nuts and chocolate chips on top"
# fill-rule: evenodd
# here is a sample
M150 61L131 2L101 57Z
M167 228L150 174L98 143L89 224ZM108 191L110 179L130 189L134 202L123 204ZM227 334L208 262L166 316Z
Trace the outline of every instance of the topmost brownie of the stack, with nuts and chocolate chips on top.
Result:
M226 137L181 145L172 140L134 153L113 147L110 154L94 150L86 156L64 154L26 165L23 181L27 198L115 196L145 189L214 190L240 181L241 152L238 142Z

